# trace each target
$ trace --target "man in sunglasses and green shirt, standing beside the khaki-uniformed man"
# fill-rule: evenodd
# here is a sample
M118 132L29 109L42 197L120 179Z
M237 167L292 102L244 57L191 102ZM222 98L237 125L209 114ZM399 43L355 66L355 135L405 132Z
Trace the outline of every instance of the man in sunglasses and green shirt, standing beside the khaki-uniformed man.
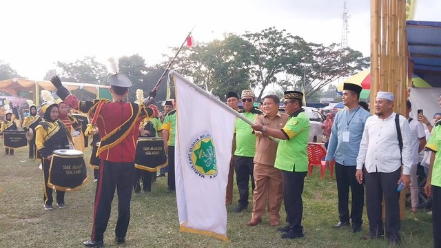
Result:
M242 91L242 114L250 121L256 116L263 114L254 108L254 93L252 90ZM254 190L254 154L256 154L256 136L248 123L240 118L236 119L234 134L236 135L236 151L234 151L234 169L236 170L236 182L239 189L238 205L234 209L236 213L248 208L249 178L251 177Z

